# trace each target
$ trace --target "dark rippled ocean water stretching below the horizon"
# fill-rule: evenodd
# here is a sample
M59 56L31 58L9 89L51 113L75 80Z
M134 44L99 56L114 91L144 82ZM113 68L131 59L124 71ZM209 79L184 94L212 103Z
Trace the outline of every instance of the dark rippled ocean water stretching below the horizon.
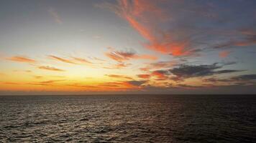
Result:
M256 96L0 97L0 142L256 142Z

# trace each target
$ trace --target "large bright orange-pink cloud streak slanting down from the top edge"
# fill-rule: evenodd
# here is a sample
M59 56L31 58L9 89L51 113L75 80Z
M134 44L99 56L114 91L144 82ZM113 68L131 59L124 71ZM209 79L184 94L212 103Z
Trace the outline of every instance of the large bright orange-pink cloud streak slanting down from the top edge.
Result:
M163 11L157 7L156 1L119 1L116 14L126 19L129 24L149 41L145 47L160 51L163 54L173 56L186 56L191 51L186 50L188 41L175 41L170 34L165 33L160 27L156 27L167 17ZM139 20L140 19L140 20Z

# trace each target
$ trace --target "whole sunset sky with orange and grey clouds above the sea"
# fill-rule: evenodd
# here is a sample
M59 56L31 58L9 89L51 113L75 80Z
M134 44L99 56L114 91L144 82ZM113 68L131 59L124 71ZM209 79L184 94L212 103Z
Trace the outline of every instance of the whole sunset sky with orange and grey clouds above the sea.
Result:
M0 1L0 94L256 94L255 0Z

